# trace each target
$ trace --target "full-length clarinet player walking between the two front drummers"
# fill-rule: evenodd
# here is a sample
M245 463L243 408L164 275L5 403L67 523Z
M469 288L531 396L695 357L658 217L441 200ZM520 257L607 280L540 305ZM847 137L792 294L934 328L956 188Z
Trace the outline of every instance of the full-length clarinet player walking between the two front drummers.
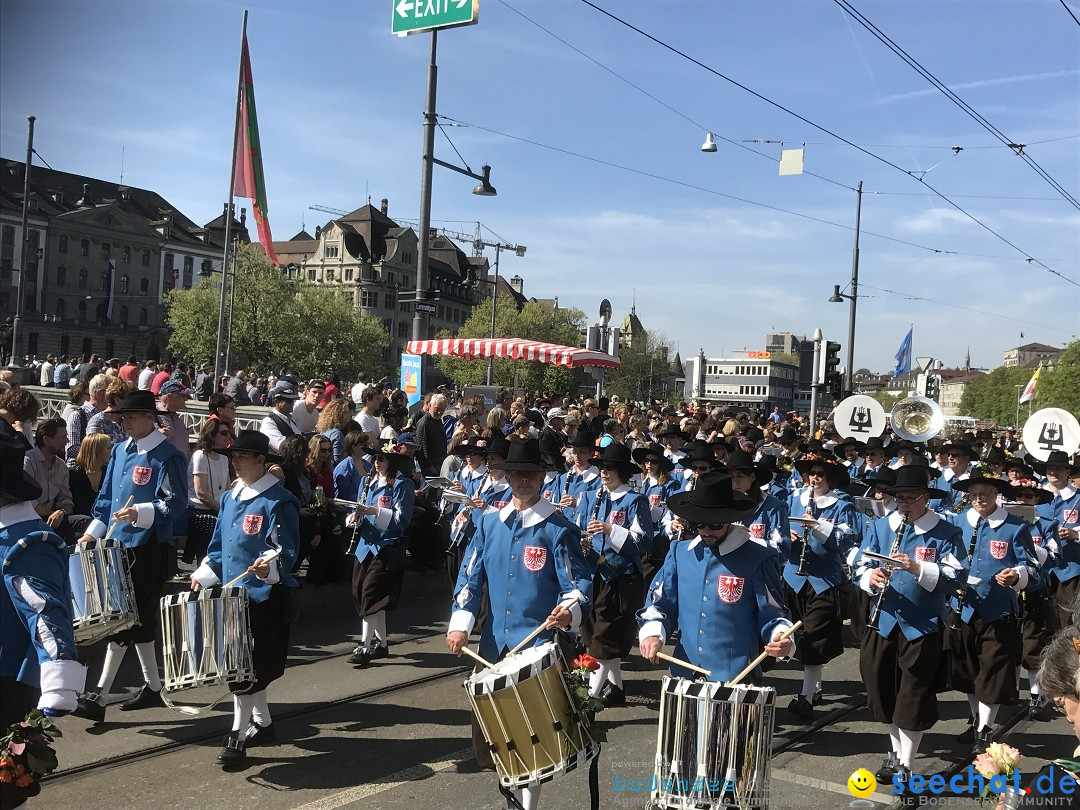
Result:
M630 448L609 444L598 463L604 486L585 492L576 510L595 568L593 610L581 629L585 649L599 662L589 689L609 706L625 704L621 660L630 654L635 615L645 602L643 561L652 546L652 516L646 498L626 482L637 473Z

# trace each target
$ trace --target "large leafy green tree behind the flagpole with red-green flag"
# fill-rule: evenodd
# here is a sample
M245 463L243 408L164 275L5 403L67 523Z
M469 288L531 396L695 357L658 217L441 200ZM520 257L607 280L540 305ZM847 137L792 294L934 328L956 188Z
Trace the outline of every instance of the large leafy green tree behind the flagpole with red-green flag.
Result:
M232 369L287 367L303 376L345 377L376 368L389 345L381 322L362 318L345 291L288 281L251 245L237 254L235 287ZM173 352L195 361L214 356L219 295L218 283L204 280L166 296Z

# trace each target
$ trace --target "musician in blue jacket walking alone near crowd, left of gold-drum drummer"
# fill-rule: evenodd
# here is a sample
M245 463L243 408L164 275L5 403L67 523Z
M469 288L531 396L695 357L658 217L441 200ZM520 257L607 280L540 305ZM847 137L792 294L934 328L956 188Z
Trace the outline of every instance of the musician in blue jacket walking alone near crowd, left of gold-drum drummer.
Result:
M360 644L349 656L354 666L390 654L387 611L397 607L405 579L405 529L413 519L416 487L403 472L413 459L400 445L386 444L375 455L368 473L367 498L356 507L346 526L354 532L352 600L361 619ZM365 485L367 482L365 482Z

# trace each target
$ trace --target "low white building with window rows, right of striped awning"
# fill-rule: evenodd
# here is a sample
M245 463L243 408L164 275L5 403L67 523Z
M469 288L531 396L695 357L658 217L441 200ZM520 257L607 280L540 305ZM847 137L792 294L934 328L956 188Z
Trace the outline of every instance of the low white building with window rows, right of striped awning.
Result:
M684 394L687 399L717 405L756 405L762 409L795 406L799 367L771 357L735 352L732 357L706 357L704 353L683 361Z

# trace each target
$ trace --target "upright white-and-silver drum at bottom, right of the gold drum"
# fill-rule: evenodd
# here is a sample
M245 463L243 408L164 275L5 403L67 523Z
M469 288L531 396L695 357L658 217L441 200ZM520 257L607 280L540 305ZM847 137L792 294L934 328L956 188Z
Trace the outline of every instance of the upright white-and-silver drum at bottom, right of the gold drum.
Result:
M775 698L768 687L665 677L654 806L766 807Z

